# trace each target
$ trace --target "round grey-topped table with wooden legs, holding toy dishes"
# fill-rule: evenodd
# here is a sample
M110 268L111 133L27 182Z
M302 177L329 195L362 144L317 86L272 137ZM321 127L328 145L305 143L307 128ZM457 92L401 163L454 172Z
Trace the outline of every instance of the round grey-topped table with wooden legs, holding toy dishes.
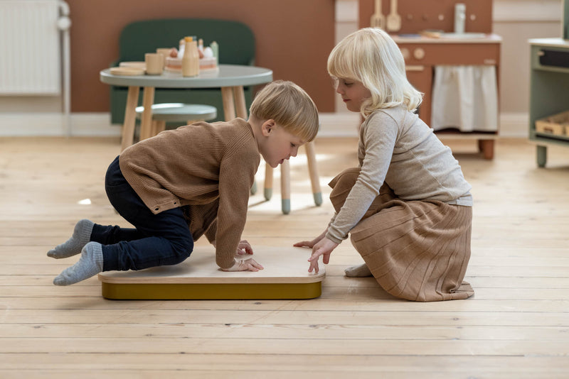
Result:
M219 65L216 72L204 71L197 77L183 77L179 72L168 71L162 75L112 75L110 69L106 69L100 72L100 80L105 84L129 87L122 127L121 150L124 150L133 142L140 87L144 87L144 112L140 123L142 140L151 137L151 106L154 104L155 88L220 88L225 120L235 119L235 116L247 119L243 86L272 82L272 70L254 66Z

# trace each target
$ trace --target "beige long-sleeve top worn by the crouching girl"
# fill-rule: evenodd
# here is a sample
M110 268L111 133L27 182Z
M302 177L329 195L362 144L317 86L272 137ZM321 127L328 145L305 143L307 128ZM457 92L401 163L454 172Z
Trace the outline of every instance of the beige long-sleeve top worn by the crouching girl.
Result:
M347 238L379 194L383 182L404 200L440 200L472 207L472 188L452 151L417 114L403 106L379 109L360 129L358 160L361 173L326 237Z

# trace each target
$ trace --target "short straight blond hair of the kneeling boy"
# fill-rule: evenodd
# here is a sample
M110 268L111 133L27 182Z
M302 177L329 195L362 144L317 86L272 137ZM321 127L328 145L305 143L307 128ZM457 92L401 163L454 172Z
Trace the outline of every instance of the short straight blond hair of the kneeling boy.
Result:
M305 142L318 133L318 109L304 89L293 82L277 80L257 93L250 108L257 120L273 119Z

